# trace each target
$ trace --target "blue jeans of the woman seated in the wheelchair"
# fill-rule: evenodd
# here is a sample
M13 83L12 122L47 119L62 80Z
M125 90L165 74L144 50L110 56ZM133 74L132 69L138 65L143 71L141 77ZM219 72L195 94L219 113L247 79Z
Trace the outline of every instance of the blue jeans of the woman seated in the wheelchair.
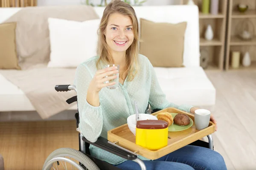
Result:
M154 161L143 161L147 170L227 170L223 157L205 147L187 145ZM115 165L122 170L141 170L134 161Z

